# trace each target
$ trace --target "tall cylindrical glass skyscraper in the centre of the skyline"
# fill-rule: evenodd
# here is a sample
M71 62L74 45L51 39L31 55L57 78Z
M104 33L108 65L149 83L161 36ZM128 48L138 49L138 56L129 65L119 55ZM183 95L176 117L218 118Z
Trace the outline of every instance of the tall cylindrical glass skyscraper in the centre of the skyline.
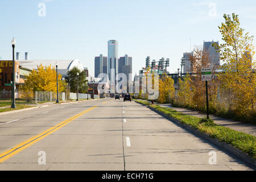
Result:
M108 76L109 80L110 71L114 69L114 77L118 74L118 42L117 40L109 40L108 41Z

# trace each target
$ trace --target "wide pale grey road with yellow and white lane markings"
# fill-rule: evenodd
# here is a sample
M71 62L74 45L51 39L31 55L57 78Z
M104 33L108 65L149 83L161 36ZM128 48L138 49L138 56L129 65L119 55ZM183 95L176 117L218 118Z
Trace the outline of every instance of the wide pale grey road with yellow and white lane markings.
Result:
M46 164L39 151L46 154ZM216 164L209 164L209 152ZM0 170L251 170L147 107L94 100L0 116Z

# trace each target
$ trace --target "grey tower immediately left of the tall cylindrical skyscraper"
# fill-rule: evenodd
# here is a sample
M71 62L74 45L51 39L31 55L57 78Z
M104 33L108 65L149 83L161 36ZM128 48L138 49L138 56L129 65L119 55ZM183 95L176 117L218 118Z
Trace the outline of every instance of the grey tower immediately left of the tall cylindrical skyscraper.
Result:
M108 57L103 55L96 56L94 59L94 77L98 77L100 73L108 73Z

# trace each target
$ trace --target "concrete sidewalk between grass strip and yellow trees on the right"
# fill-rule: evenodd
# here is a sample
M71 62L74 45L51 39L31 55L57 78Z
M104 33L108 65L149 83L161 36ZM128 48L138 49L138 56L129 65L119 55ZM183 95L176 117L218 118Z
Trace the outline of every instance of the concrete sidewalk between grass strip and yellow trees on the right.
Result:
M199 118L206 117L206 114L201 113L200 111L197 111L197 110L185 109L181 107L173 107L171 104L158 104L158 103L155 103L155 104L162 107L169 107L183 114L193 115ZM230 129L237 130L237 131L242 131L243 133L251 134L256 137L255 125L250 125L249 123L243 123L240 121L234 121L232 119L217 117L216 115L212 115L212 114L210 114L209 117L214 121L214 123L216 123L216 125L228 127Z

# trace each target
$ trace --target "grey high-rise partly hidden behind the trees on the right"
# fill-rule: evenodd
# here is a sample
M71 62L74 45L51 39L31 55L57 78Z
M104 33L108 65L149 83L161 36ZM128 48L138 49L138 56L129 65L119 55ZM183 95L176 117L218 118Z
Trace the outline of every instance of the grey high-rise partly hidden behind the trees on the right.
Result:
M209 56L209 66L210 67L218 67L220 65L220 52L215 49L213 44L218 42L204 42L203 51L208 53Z

